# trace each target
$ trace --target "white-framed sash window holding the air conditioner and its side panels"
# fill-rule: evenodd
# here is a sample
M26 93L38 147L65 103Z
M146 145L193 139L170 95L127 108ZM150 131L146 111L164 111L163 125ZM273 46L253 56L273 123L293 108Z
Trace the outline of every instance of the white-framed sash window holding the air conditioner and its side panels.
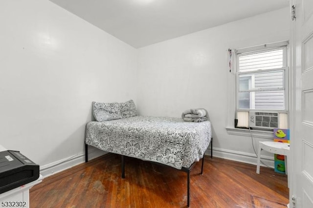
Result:
M249 112L278 112L288 128L288 42L237 50L235 61L238 127L249 127Z

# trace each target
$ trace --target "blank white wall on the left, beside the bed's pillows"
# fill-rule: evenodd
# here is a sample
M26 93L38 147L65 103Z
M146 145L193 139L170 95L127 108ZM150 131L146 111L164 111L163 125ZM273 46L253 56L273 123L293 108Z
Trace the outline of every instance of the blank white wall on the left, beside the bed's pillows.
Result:
M0 1L0 144L45 166L84 152L91 102L136 102L137 50L48 0Z

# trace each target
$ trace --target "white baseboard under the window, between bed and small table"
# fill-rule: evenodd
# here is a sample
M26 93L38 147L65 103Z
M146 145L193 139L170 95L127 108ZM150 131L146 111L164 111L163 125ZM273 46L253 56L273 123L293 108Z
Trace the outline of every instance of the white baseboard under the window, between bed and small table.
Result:
M211 155L211 150L208 149L205 151L205 155ZM219 157L227 160L234 160L238 162L248 163L248 164L257 164L257 156L255 154L242 152L242 151L232 151L225 150L221 148L213 148L213 157ZM267 166L274 168L274 158L270 156L261 156L261 161ZM261 163L261 166L265 166Z

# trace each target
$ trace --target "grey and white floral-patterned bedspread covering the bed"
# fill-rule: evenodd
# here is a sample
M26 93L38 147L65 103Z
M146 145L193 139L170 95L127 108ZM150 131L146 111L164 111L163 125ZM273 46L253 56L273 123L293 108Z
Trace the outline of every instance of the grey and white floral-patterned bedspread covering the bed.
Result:
M90 121L86 127L88 145L177 169L199 161L211 136L210 121L186 122L172 117L133 116Z

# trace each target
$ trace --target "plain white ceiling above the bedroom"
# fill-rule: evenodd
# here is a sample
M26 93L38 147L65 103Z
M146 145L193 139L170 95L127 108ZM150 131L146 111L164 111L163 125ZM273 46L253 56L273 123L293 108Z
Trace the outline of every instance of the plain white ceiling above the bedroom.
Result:
M134 48L289 6L289 0L50 1Z

